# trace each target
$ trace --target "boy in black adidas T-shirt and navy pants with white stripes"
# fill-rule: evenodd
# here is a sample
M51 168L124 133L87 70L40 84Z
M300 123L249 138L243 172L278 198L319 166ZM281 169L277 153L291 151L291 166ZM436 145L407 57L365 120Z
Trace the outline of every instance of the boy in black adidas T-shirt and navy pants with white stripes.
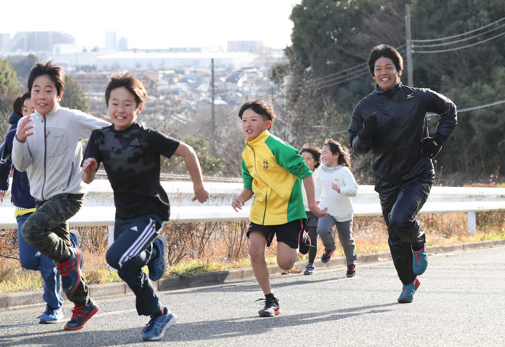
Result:
M137 313L151 317L142 339L159 340L177 320L159 303L150 281L160 279L166 268L167 241L159 233L163 221L169 219L170 203L160 184L160 155L184 158L193 181L193 201L203 203L209 193L191 146L135 122L147 99L138 79L129 73L112 76L105 99L113 125L91 133L82 180L91 183L99 163L104 163L116 205L114 243L107 251L107 262L135 293ZM149 278L142 271L146 264Z

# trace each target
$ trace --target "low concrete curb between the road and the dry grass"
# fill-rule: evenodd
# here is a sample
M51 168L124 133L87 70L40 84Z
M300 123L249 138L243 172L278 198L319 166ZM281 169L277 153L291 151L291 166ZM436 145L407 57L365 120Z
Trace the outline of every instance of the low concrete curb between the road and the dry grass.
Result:
M499 246L505 246L505 240L481 241L474 243L465 243L460 245L427 246L426 251L428 252L428 254L451 253L451 252L463 252L463 251L499 247ZM359 255L357 263L367 264L390 260L391 260L391 254L389 252L371 253L371 254ZM304 270L306 264L307 264L306 260L297 261L294 264L293 269ZM319 270L344 267L345 257L334 257L326 264L321 262L315 262L314 265L316 269ZM268 271L270 273L270 276L272 277L281 276L282 274L285 273L285 271L280 269L276 264L268 265ZM292 270L290 271L291 271L290 273L293 273ZM190 277L167 276L161 278L156 283L156 285L158 291L170 291L180 288L190 288L190 287L220 284L220 283L239 282L253 279L255 279L255 276L251 268L239 268L239 269L197 273ZM122 295L129 296L132 295L133 293L131 292L130 288L126 285L126 283L111 282L102 284L90 284L89 294L93 299L107 299ZM43 306L45 303L42 299L42 296L43 296L42 290L0 294L0 312L28 307ZM68 301L66 300L66 302Z

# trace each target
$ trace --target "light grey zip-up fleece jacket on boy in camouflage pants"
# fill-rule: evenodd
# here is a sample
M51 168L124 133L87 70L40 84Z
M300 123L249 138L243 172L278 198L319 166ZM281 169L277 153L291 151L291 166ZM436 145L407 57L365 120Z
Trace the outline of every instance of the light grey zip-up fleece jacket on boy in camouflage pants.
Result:
M46 115L35 111L31 117L35 134L25 142L15 137L12 150L14 166L28 175L31 196L44 201L58 194L84 194L82 140L110 123L60 104ZM18 131L24 119L19 120Z

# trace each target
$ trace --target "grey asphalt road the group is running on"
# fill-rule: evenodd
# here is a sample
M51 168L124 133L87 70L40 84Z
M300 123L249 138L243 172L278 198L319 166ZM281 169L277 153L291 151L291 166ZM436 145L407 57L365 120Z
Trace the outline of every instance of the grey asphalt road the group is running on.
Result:
M410 304L390 261L313 276L272 279L281 314L257 315L262 293L255 281L161 292L179 317L161 341L142 342L148 318L133 297L98 300L82 330L42 325L41 309L0 313L1 346L503 346L505 247L429 257ZM70 306L64 306L66 321Z

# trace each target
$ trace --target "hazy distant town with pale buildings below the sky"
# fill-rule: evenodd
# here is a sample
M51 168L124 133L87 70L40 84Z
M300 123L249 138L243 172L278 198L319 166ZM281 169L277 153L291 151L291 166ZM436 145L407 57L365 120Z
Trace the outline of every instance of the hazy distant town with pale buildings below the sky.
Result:
M18 32L13 37L0 33L0 57L29 54L62 66L81 85L92 114L105 112L103 95L111 74L130 70L142 79L150 98L175 100L182 118L187 111L212 103L212 61L214 105L233 108L247 97L274 93L268 71L285 61L282 49L265 47L263 41L228 41L227 47L136 49L129 48L128 39L116 32L106 32L104 44L93 47L80 46L72 35L62 32Z

